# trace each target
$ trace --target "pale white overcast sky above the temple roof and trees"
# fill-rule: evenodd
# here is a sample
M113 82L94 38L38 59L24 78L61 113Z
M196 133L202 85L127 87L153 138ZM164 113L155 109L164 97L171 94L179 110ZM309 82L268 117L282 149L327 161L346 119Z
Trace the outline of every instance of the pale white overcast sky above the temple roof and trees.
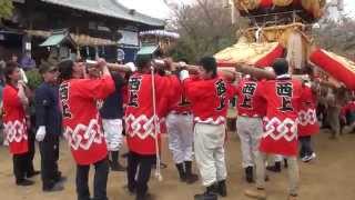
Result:
M170 17L169 8L164 4L163 0L118 0L124 6L135 9L140 12L146 13L149 16L168 19ZM191 3L193 0L169 0L180 3ZM344 0L345 12L351 13L355 17L355 1Z

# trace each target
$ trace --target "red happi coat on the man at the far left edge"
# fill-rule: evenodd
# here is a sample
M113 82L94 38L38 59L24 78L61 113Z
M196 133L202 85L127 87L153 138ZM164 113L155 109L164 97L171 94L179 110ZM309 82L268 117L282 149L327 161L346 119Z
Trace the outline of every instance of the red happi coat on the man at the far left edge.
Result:
M3 127L10 153L22 154L29 151L26 113L18 97L18 89L7 84L3 88Z

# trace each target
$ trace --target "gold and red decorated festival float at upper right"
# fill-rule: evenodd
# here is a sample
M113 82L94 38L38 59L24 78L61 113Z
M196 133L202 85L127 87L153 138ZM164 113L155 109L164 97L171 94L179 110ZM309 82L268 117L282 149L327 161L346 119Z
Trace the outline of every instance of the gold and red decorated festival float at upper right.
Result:
M220 68L246 63L248 71L265 71L285 58L292 74L312 67L327 86L355 90L355 62L317 48L312 38L312 23L323 16L326 0L234 0L234 6L251 23L234 46L214 54Z

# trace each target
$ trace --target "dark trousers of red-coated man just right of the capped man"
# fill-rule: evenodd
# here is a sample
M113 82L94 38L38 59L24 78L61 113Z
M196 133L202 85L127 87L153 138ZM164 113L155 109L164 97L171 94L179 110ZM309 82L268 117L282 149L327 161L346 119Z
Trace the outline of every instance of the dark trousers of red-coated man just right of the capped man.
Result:
M108 158L105 158L101 161L98 161L93 166L95 167L95 174L93 180L93 199L90 199L90 191L88 186L90 166L77 166L78 200L108 200L106 184L109 176L109 160Z

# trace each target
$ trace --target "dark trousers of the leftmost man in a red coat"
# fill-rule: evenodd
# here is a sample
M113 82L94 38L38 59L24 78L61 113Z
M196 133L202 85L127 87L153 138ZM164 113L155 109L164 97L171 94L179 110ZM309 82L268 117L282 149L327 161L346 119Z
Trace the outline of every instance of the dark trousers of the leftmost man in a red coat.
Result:
M16 182L19 183L26 179L28 171L29 153L13 154L13 174Z

